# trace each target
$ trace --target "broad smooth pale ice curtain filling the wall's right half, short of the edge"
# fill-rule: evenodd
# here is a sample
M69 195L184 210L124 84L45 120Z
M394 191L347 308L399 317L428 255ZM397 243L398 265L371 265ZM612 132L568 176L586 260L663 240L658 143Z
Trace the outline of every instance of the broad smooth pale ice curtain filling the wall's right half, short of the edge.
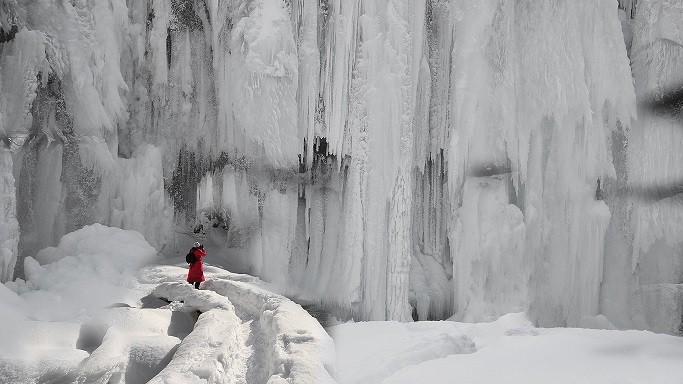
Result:
M456 2L453 12L461 20L448 148L451 206L461 206L450 234L460 244L451 247L456 313L528 306L541 324L580 325L600 313L610 212L596 187L615 175L612 132L634 117L615 4ZM482 164L509 171L509 197L474 188ZM510 237L515 210L523 224ZM506 279L528 290L496 286ZM507 305L496 303L506 295Z

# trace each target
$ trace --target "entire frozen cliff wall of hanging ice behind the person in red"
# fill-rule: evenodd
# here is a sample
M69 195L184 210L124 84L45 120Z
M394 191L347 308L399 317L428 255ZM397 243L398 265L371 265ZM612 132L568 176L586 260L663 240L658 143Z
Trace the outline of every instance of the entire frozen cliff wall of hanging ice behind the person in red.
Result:
M636 108L683 73L675 3L4 1L0 219L21 257L192 228L355 318L675 333L683 210L618 193L680 173Z

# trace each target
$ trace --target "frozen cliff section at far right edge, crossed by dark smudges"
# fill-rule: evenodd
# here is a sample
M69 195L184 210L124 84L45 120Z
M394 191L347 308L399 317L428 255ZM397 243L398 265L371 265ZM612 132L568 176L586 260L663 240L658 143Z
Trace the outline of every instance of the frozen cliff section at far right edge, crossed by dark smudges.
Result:
M615 324L628 319L662 332L680 331L683 315L683 209L676 194L683 179L683 121L680 110L650 106L683 85L682 20L683 2L638 1L631 60L640 105L624 177L649 193L617 208L624 211L619 226L630 229L617 239L629 246L609 259L618 273L606 276L603 299Z

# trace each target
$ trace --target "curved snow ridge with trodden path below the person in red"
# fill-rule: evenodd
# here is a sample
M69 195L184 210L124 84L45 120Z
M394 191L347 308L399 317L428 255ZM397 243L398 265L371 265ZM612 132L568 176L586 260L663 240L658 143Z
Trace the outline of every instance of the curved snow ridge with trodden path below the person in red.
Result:
M184 271L164 267L162 274L181 275L178 270ZM153 274L148 276L155 279ZM259 287L258 280L230 277L216 274L201 290L176 282L154 289L153 296L202 313L151 382L334 383L334 346L320 324L301 306Z

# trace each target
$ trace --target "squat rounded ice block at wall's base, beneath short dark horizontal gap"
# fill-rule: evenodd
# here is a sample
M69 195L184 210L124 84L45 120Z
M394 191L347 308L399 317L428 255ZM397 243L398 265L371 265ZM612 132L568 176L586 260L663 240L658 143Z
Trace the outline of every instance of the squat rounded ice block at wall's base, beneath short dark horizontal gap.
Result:
M506 177L468 178L455 229L456 311L463 320L494 318L529 305L522 212L509 204Z

